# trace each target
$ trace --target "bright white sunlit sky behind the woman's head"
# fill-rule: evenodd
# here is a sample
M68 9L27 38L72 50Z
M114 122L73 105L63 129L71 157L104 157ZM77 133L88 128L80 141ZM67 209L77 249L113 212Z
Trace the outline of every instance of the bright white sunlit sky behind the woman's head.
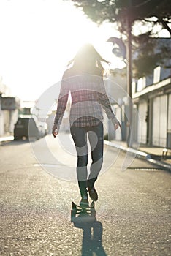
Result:
M58 83L70 59L91 42L111 68L123 67L109 37L112 24L96 26L71 1L0 0L0 81L12 96L34 101Z

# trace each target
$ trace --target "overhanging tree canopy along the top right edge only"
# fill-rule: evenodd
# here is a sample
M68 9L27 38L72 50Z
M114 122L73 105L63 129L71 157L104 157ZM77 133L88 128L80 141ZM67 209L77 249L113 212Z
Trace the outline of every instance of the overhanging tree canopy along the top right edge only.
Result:
M118 29L125 34L126 16L129 15L132 24L143 20L152 25L161 24L171 35L170 0L71 0L94 22L101 24L104 20L118 23ZM156 20L149 20L150 18Z

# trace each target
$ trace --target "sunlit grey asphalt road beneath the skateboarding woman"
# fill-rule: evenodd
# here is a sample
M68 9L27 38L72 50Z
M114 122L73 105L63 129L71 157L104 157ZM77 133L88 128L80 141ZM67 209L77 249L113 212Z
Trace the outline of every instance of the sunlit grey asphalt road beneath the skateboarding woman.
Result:
M72 146L69 135L0 146L0 255L171 255L170 173L141 159L123 171L126 155L105 148L96 219L71 223Z

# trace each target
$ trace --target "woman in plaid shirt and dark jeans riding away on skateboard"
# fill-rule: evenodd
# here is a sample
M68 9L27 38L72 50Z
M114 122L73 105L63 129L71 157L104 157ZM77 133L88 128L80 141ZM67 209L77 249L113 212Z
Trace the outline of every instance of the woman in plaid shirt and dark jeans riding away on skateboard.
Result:
M115 118L109 99L104 89L104 68L106 62L93 45L86 44L77 52L66 69L61 81L61 91L53 125L53 136L58 135L61 120L64 116L69 92L72 105L69 115L70 131L77 151L77 181L80 189L80 206L88 207L88 193L96 201L98 195L94 183L99 175L103 162L103 114L113 122L114 129L121 128ZM88 176L88 145L91 146L91 167ZM88 190L87 190L88 189Z

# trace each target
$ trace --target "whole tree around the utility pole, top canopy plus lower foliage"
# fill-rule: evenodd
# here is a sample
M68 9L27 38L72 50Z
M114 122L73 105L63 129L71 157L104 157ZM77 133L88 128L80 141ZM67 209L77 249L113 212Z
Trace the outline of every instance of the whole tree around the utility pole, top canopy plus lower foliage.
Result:
M156 26L167 29L171 36L170 0L71 0L75 6L82 9L88 18L97 24L104 21L115 23L122 35L126 35L127 18L132 26L132 48L137 52L133 58L133 75L140 78L148 75L157 64L163 64L162 59L170 59L167 50L159 53L156 48ZM137 28L144 33L137 34ZM163 48L163 45L161 45ZM163 50L163 49L162 49ZM166 53L166 54L165 54Z

